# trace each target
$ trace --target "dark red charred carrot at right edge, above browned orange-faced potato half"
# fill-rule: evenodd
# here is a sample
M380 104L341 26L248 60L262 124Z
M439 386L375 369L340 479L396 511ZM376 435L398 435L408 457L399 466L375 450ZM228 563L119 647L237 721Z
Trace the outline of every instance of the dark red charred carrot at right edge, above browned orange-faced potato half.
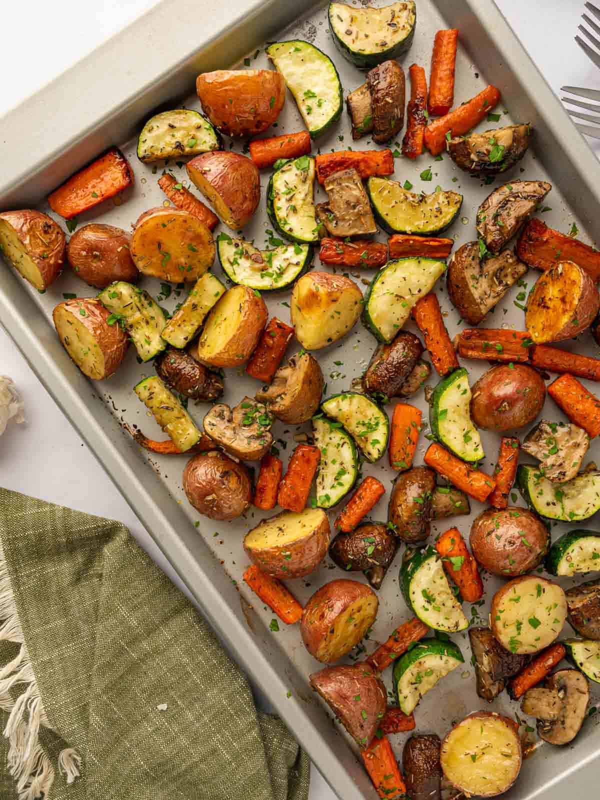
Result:
M594 281L600 280L600 252L558 230L541 219L530 219L517 242L518 258L537 270L550 270L560 261L574 261Z

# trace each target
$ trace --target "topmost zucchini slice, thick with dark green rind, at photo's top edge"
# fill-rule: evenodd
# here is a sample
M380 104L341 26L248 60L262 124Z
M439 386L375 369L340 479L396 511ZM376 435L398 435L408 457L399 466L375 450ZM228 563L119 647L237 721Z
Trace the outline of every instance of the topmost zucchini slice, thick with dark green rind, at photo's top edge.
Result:
M340 53L359 68L377 66L409 49L417 24L412 0L382 8L353 8L330 2L329 24Z

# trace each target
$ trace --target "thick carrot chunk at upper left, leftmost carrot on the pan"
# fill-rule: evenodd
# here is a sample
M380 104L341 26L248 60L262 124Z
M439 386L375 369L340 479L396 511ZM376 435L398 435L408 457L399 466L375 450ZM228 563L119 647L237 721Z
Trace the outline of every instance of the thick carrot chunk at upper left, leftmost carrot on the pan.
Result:
M114 197L133 182L134 173L129 162L113 147L58 186L48 197L48 204L54 214L72 219Z

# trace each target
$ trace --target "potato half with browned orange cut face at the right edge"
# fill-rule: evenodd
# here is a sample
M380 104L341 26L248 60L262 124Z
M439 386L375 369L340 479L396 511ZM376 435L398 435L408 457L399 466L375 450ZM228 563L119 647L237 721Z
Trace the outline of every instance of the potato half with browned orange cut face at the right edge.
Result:
M525 323L537 344L571 339L594 322L600 295L578 264L563 261L540 275L527 302Z

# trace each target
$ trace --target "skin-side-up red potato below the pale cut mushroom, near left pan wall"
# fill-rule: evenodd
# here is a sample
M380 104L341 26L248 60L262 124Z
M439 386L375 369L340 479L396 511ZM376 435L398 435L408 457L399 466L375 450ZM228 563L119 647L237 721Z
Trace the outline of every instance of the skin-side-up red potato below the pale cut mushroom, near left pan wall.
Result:
M183 491L191 505L205 517L230 520L250 506L252 482L243 464L220 453L194 455L183 470Z

